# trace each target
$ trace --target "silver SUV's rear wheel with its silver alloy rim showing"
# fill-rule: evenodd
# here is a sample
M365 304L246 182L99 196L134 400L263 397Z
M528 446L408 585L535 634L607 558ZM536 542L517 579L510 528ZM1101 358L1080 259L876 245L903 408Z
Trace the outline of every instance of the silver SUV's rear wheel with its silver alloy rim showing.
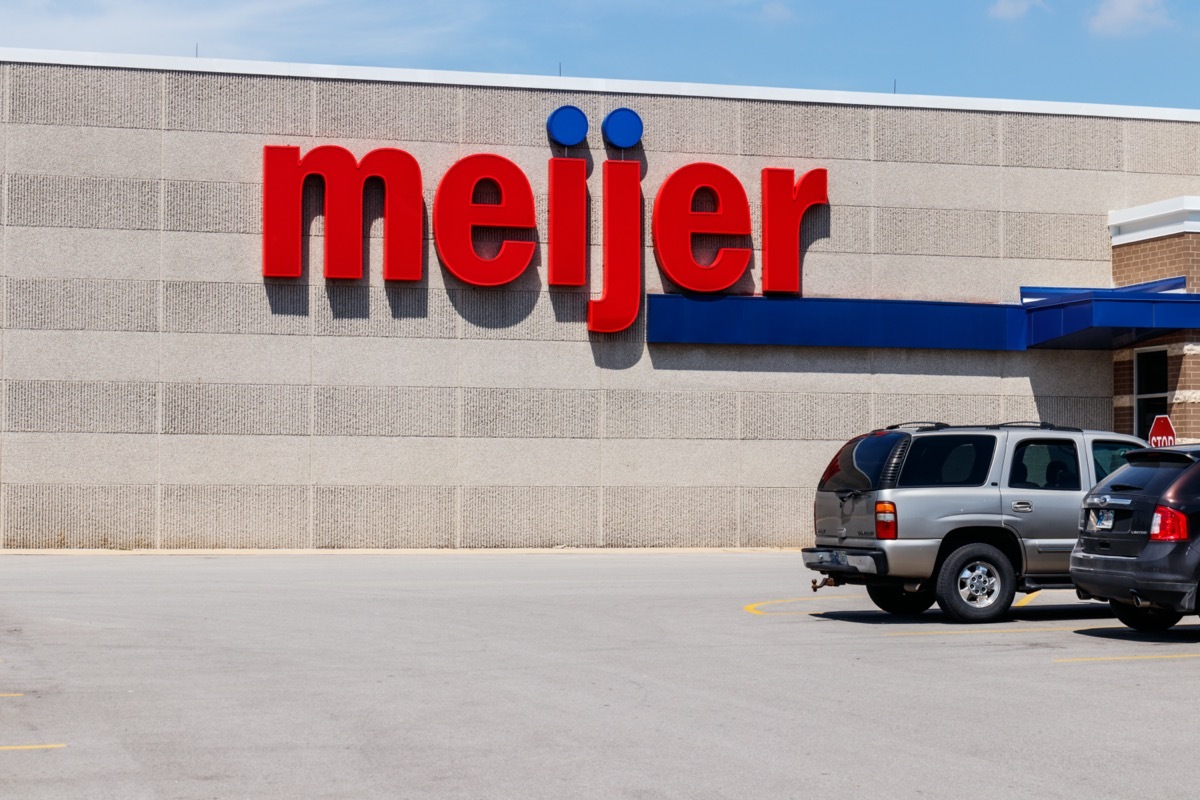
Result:
M937 572L937 604L955 622L990 622L1008 613L1016 596L1016 572L991 545L964 545Z

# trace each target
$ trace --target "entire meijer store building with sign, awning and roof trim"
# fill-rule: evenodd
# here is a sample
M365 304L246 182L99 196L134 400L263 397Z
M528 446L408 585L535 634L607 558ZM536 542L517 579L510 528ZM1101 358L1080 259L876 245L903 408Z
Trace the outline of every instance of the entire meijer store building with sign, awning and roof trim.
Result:
M799 546L875 427L1200 439L1200 112L12 49L0 82L5 548Z

